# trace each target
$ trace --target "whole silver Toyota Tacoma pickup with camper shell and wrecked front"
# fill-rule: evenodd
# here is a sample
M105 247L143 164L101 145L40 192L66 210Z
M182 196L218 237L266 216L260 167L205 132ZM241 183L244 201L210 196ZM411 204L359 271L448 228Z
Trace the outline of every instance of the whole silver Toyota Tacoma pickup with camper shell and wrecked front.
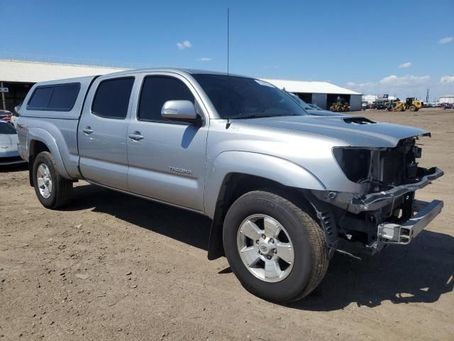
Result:
M30 183L50 209L79 179L212 220L209 259L275 302L320 283L333 252L408 244L441 212L415 191L428 131L313 116L262 80L149 69L40 82L18 121ZM190 231L188 231L190 233Z

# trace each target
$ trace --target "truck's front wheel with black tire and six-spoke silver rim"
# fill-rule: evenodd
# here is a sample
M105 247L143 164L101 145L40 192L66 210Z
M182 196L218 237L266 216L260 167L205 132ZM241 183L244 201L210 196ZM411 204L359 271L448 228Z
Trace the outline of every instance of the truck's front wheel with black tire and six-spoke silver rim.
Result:
M321 226L284 196L246 193L227 212L223 244L240 283L268 301L297 301L311 293L328 269Z

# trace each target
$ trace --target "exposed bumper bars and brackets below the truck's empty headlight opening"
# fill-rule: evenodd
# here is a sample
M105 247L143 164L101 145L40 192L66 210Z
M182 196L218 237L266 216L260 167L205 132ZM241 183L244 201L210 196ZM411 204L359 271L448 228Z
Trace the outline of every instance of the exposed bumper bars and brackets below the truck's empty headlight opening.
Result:
M438 167L424 171L425 175L417 183L398 185L367 195L330 191L312 193L319 200L341 209L338 211L343 212L339 220L344 224L340 227L341 231L366 232L368 239L363 241L364 246L375 253L385 244L409 244L443 209L443 201L414 199L416 190L443 175ZM401 217L397 215L397 210L402 210ZM351 238L351 234L345 235Z

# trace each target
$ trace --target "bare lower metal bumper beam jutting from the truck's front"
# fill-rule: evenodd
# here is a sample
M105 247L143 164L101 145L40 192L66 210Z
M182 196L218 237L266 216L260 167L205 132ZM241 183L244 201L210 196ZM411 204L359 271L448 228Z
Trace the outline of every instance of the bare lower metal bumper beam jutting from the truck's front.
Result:
M412 210L416 215L403 224L382 222L378 225L379 242L387 244L409 244L443 209L443 201L425 202L414 200Z

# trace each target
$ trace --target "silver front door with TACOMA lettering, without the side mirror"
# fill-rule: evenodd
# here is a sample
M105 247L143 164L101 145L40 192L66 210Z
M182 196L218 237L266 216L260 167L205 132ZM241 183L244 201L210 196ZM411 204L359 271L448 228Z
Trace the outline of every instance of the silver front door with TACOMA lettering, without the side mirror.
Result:
M142 75L128 126L128 187L133 193L194 210L204 209L208 121L203 126L161 117L169 100L187 99L204 113L192 85L175 74Z

